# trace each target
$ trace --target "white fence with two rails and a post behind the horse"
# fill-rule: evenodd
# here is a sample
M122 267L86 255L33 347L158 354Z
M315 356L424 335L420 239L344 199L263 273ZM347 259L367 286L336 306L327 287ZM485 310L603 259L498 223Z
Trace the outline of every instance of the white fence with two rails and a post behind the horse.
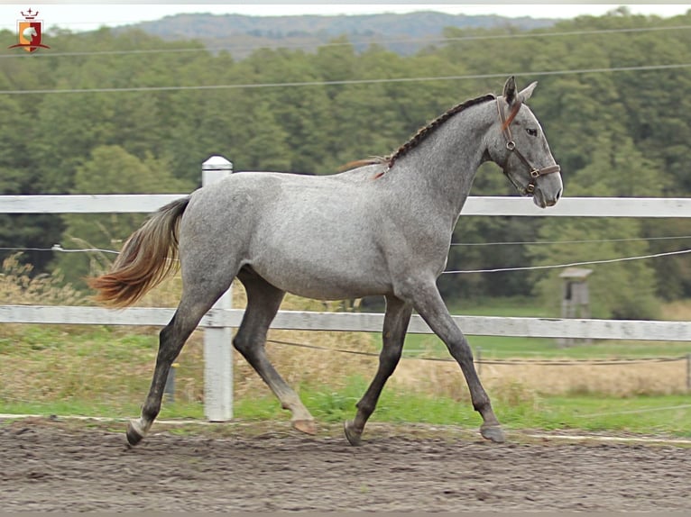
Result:
M202 166L203 183L232 172L226 159L213 157ZM0 213L151 213L182 195L0 195ZM520 197L469 197L463 215L569 217L691 217L691 199L571 197L546 210ZM165 325L174 310L41 305L0 305L0 323L69 323L97 325ZM229 294L200 322L205 329L205 414L221 422L233 415L231 329L242 319ZM563 320L454 316L468 335L578 338L598 340L691 341L691 322ZM281 311L272 329L313 331L381 331L383 314ZM410 333L432 333L414 315Z

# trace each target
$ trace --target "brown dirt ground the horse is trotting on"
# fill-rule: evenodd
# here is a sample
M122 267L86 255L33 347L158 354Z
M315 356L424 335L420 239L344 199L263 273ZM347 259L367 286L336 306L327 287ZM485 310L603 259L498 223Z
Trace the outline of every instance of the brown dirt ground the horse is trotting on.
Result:
M372 424L166 427L0 421L0 512L688 512L691 449ZM221 425L221 424L216 424Z

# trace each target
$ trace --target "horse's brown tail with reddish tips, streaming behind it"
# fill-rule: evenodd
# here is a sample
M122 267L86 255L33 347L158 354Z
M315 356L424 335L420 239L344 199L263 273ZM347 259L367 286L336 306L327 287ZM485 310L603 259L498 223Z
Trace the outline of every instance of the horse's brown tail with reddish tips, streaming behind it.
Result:
M188 204L189 196L162 206L126 240L110 273L88 278L98 302L134 304L177 269L179 221Z

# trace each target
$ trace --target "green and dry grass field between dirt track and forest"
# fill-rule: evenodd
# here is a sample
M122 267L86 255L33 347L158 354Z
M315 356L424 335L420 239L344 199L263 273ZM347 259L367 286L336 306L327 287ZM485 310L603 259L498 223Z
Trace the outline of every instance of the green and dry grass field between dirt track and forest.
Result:
M13 269L14 268L14 269ZM0 274L0 298L8 303L70 303L72 291L35 281L10 264ZM7 267L5 266L5 270ZM234 289L235 305L244 304ZM164 305L167 295L155 305ZM169 296L170 297L170 296ZM163 303L161 303L163 302ZM284 309L319 310L321 304L288 298ZM691 319L691 304L673 304L674 318ZM493 300L452 306L453 313L545 316L526 300ZM318 345L295 349L269 343L272 362L319 422L342 422L355 414L376 357L343 355L329 349L377 352L380 336L355 332L272 331L274 340ZM553 340L470 336L483 358L641 358L679 357L688 343L601 341L558 349ZM0 413L136 416L149 389L158 346L158 329L79 325L0 326ZM476 429L474 412L460 370L446 347L428 335L410 335L409 358L401 360L382 394L373 422L422 422ZM477 353L476 353L477 355ZM178 359L176 402L164 403L161 419L204 417L203 345L195 332ZM668 433L691 436L686 393L686 363L639 366L480 366L485 388L508 429L580 429ZM672 408L672 409L669 409ZM674 409L676 408L676 409ZM288 420L288 413L263 382L235 354L235 416L244 420Z

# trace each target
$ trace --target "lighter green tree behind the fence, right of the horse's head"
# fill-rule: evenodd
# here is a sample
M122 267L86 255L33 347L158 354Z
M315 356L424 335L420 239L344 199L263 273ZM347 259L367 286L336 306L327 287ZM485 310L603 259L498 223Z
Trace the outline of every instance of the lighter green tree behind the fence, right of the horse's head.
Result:
M643 158L628 137L601 135L594 142L594 159L578 172L569 195L638 196L662 190L657 171ZM591 308L594 317L653 319L658 315L655 269L648 261L616 261L650 254L642 235L642 221L622 218L552 218L539 231L542 241L585 242L537 246L530 251L539 266L615 260L588 266ZM561 293L558 270L539 270L531 279L545 304L557 307Z

